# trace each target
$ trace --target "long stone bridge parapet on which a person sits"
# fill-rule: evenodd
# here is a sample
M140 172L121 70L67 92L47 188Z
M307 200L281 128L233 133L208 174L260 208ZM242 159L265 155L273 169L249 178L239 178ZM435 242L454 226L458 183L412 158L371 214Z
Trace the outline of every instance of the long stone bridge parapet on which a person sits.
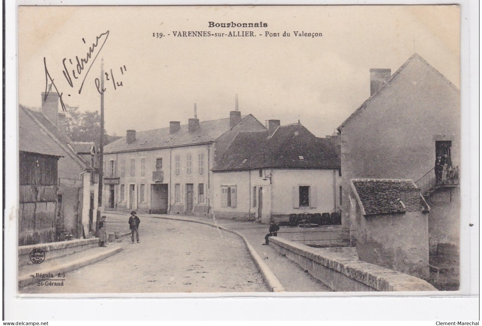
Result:
M356 260L343 248L311 248L281 237L269 243L335 291L437 291L423 279Z

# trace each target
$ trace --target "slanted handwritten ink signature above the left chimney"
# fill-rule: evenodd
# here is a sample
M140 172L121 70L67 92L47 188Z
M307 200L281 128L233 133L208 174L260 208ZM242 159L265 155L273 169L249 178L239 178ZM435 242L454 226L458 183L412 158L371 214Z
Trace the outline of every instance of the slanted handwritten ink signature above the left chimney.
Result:
M70 64L67 63L67 65L70 66L69 68L71 69L72 75L70 75L69 68L67 68L67 65L66 65L67 58L64 58L62 60L62 64L64 66L64 69L62 70L62 73L64 74L64 77L66 78L67 83L71 88L74 88L75 79L79 79L79 77L82 75L83 71L85 69L87 69L87 72L85 73L85 75L83 75L82 83L80 84L79 94L82 92L82 88L84 86L85 79L87 78L87 75L89 74L89 71L91 70L92 65L94 64L95 59L97 59L97 56L99 55L100 51L102 50L102 48L106 44L106 41L107 41L108 37L109 37L109 31L98 35L95 38L95 43L92 43L92 46L89 47L89 51L86 53L85 58L79 59L79 56L75 57L76 63L73 63L72 59L68 59L68 63L70 63ZM82 38L82 41L84 42L84 44L86 44L84 38ZM96 52L96 53L95 53L94 58L92 59L94 52ZM92 59L92 61L91 61L91 59ZM55 91L57 92L57 94L59 95L60 105L62 106L62 110L64 112L67 112L66 106L65 106L64 101L62 99L62 95L64 93L60 92L59 89L57 88L57 86L55 85L54 78L52 78L52 76L50 75L50 73L47 69L47 62L46 62L45 57L43 58L43 65L44 65L44 68L45 68L45 95L44 95L44 100L47 100L47 96L49 95L52 88L54 88ZM75 69L72 69L72 67L75 67ZM73 76L74 80L72 80L72 76ZM49 85L49 83L50 83L50 85ZM114 84L114 86L115 86L115 84ZM67 94L67 95L70 96L70 94Z

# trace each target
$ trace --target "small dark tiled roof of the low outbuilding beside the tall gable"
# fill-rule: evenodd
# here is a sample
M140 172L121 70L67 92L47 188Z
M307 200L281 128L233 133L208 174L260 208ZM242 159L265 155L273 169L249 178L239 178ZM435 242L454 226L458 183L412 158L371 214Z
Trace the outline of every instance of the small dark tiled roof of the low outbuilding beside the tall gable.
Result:
M412 180L351 179L363 215L428 212L420 188Z

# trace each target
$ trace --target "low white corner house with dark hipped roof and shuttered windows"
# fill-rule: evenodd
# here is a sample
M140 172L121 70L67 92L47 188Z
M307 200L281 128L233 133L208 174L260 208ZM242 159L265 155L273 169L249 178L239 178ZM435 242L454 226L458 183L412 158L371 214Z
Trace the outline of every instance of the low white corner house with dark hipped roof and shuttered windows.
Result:
M240 133L215 164L215 216L289 222L341 208L338 146L300 123L269 120L268 131Z

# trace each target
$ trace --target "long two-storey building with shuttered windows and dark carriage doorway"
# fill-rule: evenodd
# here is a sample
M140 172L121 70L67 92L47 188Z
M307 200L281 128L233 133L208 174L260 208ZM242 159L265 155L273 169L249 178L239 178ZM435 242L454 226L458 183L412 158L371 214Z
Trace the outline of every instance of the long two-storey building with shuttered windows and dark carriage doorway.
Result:
M104 147L104 208L143 213L211 213L216 155L241 131L266 128L253 115L135 132Z

